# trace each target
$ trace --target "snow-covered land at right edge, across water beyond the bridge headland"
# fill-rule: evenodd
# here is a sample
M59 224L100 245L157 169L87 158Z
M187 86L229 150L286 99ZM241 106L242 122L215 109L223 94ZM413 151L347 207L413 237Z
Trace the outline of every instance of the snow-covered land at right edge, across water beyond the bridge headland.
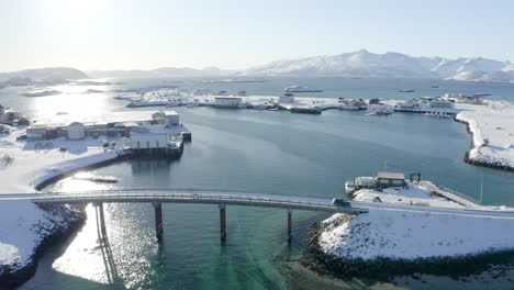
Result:
M484 105L458 104L456 119L469 124L474 161L514 168L514 104L488 100Z

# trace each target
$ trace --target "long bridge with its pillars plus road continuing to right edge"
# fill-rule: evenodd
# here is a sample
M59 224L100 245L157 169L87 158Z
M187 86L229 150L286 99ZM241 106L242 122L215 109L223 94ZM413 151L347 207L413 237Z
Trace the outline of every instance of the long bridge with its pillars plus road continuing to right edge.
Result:
M292 235L292 210L322 211L331 213L364 213L370 210L417 212L469 217L514 220L513 211L492 211L487 208L452 209L420 207L409 204L390 204L380 202L350 201L347 204L334 204L332 199L298 196L277 196L225 191L187 191L169 189L124 189L109 191L83 191L59 193L20 193L0 194L0 201L30 200L37 203L90 203L99 212L100 230L105 235L103 203L110 202L147 202L154 205L157 239L163 237L163 202L216 204L220 209L220 235L226 237L226 205L247 205L286 209L288 212L288 241Z

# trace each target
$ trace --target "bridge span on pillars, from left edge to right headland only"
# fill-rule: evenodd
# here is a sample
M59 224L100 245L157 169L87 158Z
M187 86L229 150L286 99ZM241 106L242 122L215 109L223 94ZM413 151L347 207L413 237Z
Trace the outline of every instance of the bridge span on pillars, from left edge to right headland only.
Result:
M288 211L288 241L292 237L292 210L361 213L367 209L353 208L351 205L336 205L332 199L320 199L295 196L276 196L245 192L221 191L181 191L181 190L109 190L83 191L59 193L27 193L27 194L1 194L0 201L30 200L37 203L69 203L80 204L92 202L99 211L100 230L105 234L103 203L110 202L147 202L154 205L155 228L157 239L163 237L163 202L170 203L200 203L216 204L220 209L221 239L226 237L226 205L249 205L264 208L280 208Z

